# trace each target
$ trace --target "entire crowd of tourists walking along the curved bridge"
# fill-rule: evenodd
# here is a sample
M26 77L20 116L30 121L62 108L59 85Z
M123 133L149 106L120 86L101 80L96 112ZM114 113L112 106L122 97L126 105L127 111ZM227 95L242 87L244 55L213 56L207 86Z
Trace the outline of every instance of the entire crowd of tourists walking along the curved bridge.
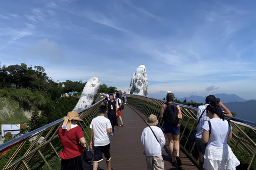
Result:
M93 118L90 124L90 149L86 149L85 138L81 127L76 123L83 121L77 112L69 112L59 129L62 143L61 169L87 169L93 157L93 169L98 169L99 162L106 158L109 170L111 168L109 136L115 132L115 126L124 126L121 111L126 104L126 93L101 93L105 96L105 105L99 106L99 116ZM162 105L159 118L164 121L163 129L168 139L172 166L180 167L180 124L182 113L179 105L174 104L174 94L166 95L166 103ZM222 111L222 109L224 111ZM235 157L227 141L232 138L232 127L224 116L232 116L229 109L214 95L207 96L205 105L197 109L197 125L195 143L199 154L199 168L206 169L236 169L239 160ZM120 124L118 124L118 121ZM157 127L157 116L151 114L146 121L147 127L141 134L141 143L145 147L146 164L149 170L164 169L162 150L165 137L161 128ZM85 161L86 160L86 161Z

